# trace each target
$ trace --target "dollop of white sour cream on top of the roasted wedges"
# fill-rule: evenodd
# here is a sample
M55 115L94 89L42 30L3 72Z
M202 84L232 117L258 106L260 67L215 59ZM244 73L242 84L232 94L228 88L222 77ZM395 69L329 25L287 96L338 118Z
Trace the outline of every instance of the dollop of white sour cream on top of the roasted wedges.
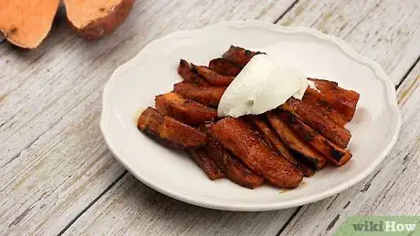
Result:
M309 86L315 87L298 69L282 69L267 55L256 55L226 88L217 114L234 118L259 115L277 108L289 97L301 99Z

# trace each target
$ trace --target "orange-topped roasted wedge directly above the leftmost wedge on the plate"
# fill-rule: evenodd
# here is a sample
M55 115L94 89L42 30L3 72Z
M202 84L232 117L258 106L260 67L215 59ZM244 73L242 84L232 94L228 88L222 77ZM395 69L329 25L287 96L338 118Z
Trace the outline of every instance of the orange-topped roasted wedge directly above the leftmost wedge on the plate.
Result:
M173 92L156 96L155 102L156 108L163 115L175 118L187 125L198 125L217 118L215 109L205 107Z

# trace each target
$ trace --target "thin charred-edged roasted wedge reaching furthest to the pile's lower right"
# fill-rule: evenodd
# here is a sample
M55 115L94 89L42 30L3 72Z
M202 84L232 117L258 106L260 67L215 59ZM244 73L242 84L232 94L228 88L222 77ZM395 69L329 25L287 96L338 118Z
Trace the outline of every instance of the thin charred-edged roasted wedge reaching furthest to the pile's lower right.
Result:
M330 140L325 139L315 131L304 124L299 118L294 117L287 111L280 110L278 112L279 118L289 124L301 139L307 141L314 149L320 151L325 157L330 159L334 164L342 166L349 159L352 158L352 153L349 150L341 149L337 145L333 144Z

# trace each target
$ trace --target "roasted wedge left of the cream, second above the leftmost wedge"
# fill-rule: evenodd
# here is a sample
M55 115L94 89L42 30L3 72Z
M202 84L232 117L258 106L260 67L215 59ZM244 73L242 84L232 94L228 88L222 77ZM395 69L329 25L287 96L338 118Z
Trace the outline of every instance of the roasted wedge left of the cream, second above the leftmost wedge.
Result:
M214 108L217 108L225 90L226 87L199 87L186 81L173 85L173 91L175 93Z

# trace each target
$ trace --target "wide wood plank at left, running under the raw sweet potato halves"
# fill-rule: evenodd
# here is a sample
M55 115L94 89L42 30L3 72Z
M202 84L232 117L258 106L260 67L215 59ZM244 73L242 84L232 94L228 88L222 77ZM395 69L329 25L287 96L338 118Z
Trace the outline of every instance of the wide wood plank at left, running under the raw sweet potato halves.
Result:
M57 234L124 173L99 129L101 89L116 67L177 29L274 22L291 3L137 1L127 21L98 42L58 20L36 50L2 44L0 234Z

